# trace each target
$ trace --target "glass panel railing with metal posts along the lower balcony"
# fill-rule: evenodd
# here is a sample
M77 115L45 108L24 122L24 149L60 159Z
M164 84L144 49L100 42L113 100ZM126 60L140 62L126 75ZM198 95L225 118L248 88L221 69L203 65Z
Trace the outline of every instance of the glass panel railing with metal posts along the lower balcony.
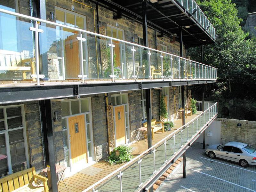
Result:
M217 102L85 191L138 191L165 168L217 115Z

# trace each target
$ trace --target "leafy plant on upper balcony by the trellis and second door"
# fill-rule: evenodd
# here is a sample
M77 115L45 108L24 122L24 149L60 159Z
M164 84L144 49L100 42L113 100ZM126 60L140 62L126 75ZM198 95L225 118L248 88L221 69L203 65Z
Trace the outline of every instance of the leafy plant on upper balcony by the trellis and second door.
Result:
M110 48L106 48L103 52L107 53L107 68L104 71L103 78L109 78L112 75L112 68L111 68L111 60L110 60ZM121 75L120 67L116 66L116 53L113 54L113 63L114 63L114 75L118 78Z

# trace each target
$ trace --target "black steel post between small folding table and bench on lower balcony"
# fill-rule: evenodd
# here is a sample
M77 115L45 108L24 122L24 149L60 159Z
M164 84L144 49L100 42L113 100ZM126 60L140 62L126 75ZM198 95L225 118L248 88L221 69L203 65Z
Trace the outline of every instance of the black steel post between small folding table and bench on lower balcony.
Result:
M147 113L147 132L148 132L148 148L152 147L152 132L151 132L151 95L150 89L146 89L146 113Z

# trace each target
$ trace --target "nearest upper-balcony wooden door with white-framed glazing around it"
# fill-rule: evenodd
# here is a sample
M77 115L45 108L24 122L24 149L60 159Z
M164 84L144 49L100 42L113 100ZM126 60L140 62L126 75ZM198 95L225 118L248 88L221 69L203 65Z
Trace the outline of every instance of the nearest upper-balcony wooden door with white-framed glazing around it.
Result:
M85 16L56 7L56 22L70 27L86 29ZM85 34L82 33L86 38ZM57 72L60 80L77 79L81 75L82 68L79 55L79 40L76 37L79 32L73 29L56 27L57 45ZM83 41L83 65L84 75L88 75L88 53L86 41Z

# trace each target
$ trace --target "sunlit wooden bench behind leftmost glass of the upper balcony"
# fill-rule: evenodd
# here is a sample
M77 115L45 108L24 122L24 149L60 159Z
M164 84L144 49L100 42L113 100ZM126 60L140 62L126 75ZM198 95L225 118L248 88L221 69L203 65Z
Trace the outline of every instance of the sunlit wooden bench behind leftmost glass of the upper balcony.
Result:
M21 71L23 79L27 79L26 72L35 74L35 58L24 59L20 52L0 50L0 71Z

